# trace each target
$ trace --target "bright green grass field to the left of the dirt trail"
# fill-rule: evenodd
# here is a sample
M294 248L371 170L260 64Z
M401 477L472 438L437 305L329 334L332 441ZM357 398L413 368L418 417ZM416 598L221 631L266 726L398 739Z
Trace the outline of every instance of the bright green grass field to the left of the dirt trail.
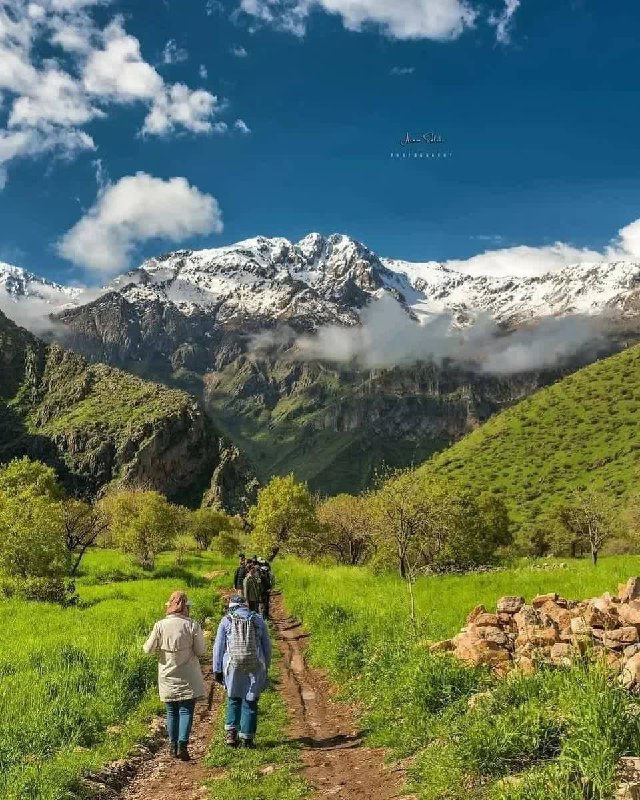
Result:
M149 576L117 553L94 551L78 607L0 602L2 800L84 797L80 777L129 752L160 710L156 660L142 642L175 589L188 590L196 618L217 616L202 576L227 566L205 553L176 567L167 553Z

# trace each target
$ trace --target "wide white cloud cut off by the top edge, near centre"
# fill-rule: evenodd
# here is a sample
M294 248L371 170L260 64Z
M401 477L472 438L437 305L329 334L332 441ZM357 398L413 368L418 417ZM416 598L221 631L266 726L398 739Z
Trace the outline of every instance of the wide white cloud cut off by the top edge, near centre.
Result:
M337 14L348 30L376 25L393 39L456 39L476 12L466 0L241 0L240 9L298 36L313 8Z

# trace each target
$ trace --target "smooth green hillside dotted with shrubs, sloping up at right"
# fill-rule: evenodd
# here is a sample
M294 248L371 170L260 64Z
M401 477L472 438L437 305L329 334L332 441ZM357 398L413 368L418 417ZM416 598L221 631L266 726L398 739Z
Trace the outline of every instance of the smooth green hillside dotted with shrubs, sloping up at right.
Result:
M493 417L420 469L503 497L529 523L575 489L623 498L640 463L640 346Z

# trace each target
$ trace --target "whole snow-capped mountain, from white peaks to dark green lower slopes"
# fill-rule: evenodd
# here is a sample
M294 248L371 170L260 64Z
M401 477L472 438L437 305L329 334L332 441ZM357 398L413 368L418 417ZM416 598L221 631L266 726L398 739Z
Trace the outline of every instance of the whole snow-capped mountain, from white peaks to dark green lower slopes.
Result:
M322 492L357 491L382 463L418 463L596 353L640 338L639 264L579 264L536 278L495 278L437 262L381 259L341 235L310 234L297 243L257 237L168 253L119 276L89 302L87 293L52 289L5 268L0 307L3 286L5 305L17 314L29 319L56 311L47 325L65 347L201 397L261 478L293 469ZM301 356L301 335L327 325L334 333L355 331L379 297L392 298L391 310L402 320L436 315L436 330L415 349L416 357L427 350L424 363L372 370ZM502 326L501 340L505 331L532 329L549 315L580 313L589 336L604 330L605 342L598 349L587 337L588 347L579 350L563 329L537 343L551 365L545 369L518 367L527 363L519 361L526 341L509 361L514 374L441 367L428 353L432 335L435 341L448 335L440 322L449 330L449 318L437 316L443 313L456 336L471 330L478 315L489 315ZM258 351L256 337L269 346Z

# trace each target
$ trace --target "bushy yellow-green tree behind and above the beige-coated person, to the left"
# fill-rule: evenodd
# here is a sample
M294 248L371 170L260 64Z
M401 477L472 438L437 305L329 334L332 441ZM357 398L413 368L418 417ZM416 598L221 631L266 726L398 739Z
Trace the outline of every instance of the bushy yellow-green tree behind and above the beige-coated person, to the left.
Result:
M100 508L114 545L147 570L153 569L157 554L171 546L184 520L184 509L154 491L114 492Z

